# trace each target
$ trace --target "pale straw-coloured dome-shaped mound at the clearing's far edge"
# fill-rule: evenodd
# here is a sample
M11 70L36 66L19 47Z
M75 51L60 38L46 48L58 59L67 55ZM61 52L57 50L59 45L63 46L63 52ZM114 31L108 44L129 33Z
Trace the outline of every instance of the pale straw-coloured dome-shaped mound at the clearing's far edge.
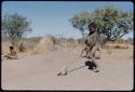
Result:
M46 36L40 40L37 47L33 49L33 53L42 53L54 50L55 39L53 36Z

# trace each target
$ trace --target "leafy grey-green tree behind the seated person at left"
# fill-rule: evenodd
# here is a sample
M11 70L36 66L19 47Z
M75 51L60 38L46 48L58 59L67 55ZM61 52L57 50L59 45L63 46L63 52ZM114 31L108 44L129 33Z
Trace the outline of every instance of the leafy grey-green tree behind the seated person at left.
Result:
M30 22L26 17L14 14L5 14L2 17L2 35L9 37L12 47L15 47L18 39L31 31Z

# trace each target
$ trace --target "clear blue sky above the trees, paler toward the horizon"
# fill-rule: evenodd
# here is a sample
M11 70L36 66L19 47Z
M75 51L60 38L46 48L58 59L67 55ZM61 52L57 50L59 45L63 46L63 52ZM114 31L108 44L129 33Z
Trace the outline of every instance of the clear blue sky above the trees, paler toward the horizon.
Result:
M18 13L31 22L32 32L27 37L45 35L67 38L82 38L81 32L73 28L69 18L83 11L93 11L105 5L133 11L130 1L3 1L2 15ZM130 32L126 37L133 37Z

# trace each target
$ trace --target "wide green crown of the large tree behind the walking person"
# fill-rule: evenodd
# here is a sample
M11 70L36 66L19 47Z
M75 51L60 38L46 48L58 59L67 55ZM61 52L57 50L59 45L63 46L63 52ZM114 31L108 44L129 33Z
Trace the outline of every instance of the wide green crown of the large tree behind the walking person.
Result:
M84 16L80 17L80 14ZM133 28L133 12L114 9L113 6L105 6L104 9L96 9L91 13L85 12L80 14L69 19L71 25L78 29L81 26L82 30L84 30L94 21L97 25L98 34L105 38L103 44L107 41L114 41L122 38L129 32L130 28Z

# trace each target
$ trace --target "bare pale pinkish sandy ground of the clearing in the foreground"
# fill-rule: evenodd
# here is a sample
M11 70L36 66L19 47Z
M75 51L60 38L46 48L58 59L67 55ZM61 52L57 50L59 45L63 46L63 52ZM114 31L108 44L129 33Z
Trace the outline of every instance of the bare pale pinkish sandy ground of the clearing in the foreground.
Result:
M75 62L76 61L76 62ZM132 90L133 58L118 60L102 56L100 71L84 66L87 60L77 52L57 50L15 61L2 61L3 90ZM56 76L64 66L67 76ZM84 66L84 67L83 67Z

